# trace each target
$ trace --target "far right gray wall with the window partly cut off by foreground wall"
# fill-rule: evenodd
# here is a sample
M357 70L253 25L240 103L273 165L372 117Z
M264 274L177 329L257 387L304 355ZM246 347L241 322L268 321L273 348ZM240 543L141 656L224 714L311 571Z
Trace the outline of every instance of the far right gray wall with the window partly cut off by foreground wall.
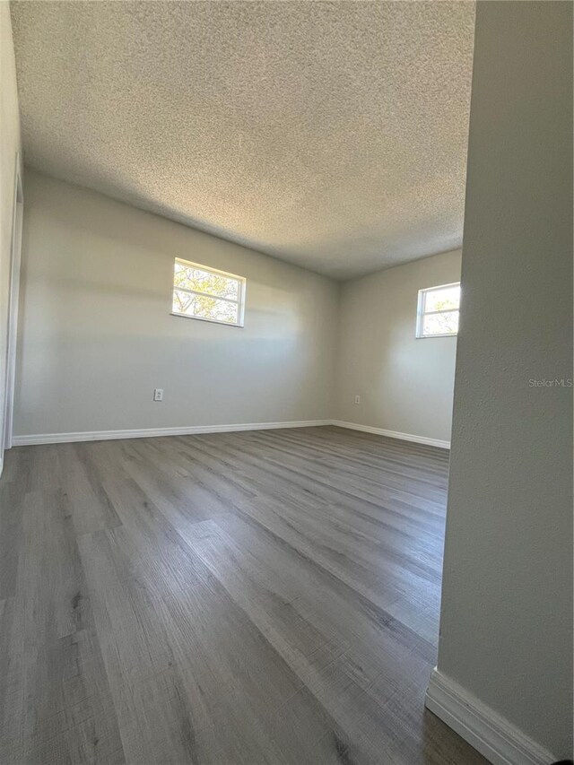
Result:
M417 339L416 310L419 290L460 281L460 258L456 250L342 285L337 420L450 440L457 338Z

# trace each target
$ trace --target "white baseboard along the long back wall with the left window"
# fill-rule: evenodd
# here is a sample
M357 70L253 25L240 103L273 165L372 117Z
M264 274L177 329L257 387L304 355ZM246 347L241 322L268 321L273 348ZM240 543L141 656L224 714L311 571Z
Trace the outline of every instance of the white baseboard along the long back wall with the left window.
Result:
M32 444L65 444L75 441L108 441L114 439L151 439L158 436L190 436L196 433L230 433L234 430L275 430L279 428L314 428L330 425L330 420L300 420L297 422L243 422L237 425L189 425L184 428L143 428L140 430L91 430L78 433L39 433L13 436L13 446Z

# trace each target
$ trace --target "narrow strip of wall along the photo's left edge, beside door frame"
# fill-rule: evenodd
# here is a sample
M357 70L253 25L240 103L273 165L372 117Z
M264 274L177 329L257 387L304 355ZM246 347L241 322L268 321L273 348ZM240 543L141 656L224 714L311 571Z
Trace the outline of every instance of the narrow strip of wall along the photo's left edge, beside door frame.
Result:
M6 392L6 344L12 230L14 176L20 152L20 119L16 90L16 69L10 6L0 3L0 472L4 455L4 415Z

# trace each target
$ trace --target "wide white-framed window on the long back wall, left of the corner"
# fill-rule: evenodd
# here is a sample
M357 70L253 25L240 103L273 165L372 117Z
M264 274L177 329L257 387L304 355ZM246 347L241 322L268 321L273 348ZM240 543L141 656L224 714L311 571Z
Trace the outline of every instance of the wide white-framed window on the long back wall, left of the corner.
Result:
M173 269L174 316L243 326L245 279L176 257Z

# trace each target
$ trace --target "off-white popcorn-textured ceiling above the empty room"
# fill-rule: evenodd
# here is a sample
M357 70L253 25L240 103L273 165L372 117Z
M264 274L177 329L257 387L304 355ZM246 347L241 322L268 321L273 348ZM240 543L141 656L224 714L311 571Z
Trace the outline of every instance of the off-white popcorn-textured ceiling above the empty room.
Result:
M13 2L25 161L348 278L462 237L465 2Z

